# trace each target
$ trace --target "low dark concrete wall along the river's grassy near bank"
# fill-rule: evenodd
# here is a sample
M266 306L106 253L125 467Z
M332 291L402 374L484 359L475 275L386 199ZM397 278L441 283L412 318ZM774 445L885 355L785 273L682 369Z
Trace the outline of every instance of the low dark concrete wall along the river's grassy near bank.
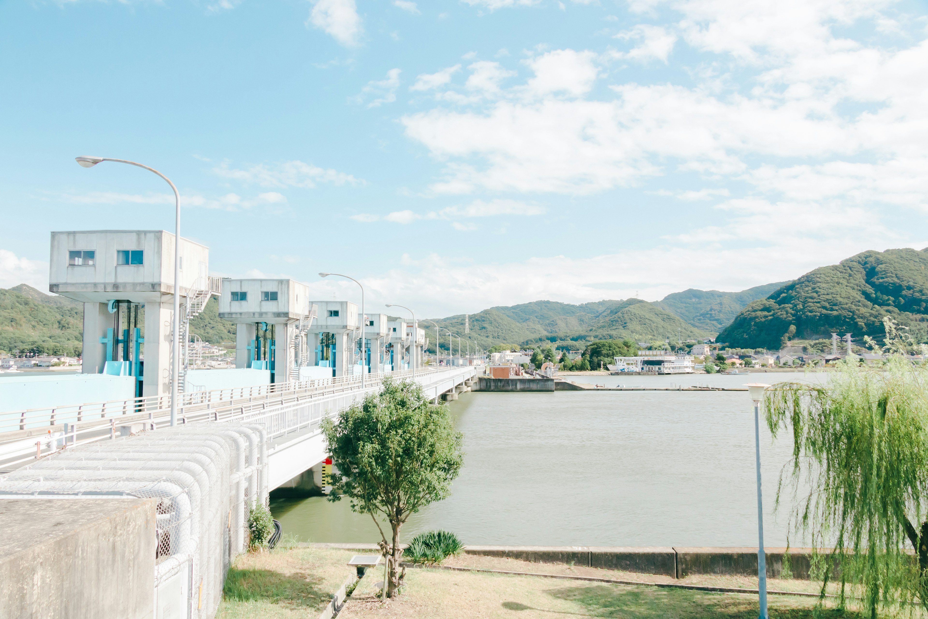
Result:
M329 548L376 550L376 544L301 544ZM536 563L567 563L636 574L685 578L695 574L757 575L757 548L727 547L597 547L597 546L468 546L466 554L507 557ZM783 574L786 548L767 548L767 576ZM811 548L791 548L793 578L807 579Z

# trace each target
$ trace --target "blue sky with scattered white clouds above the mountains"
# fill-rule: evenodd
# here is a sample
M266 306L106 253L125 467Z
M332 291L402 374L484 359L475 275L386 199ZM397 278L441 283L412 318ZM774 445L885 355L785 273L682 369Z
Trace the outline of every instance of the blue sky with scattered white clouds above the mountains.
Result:
M173 229L374 311L741 290L928 245L925 6L0 4L0 286Z

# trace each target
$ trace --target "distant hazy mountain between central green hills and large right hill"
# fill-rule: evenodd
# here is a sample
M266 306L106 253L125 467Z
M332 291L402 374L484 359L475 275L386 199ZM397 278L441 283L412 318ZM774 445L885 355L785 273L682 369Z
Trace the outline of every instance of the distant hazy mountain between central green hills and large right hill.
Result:
M693 327L717 332L728 327L748 303L763 299L788 283L790 282L780 281L774 284L764 284L741 290L741 292L690 288L690 290L668 294L663 300L657 302L657 305L671 314L680 316Z

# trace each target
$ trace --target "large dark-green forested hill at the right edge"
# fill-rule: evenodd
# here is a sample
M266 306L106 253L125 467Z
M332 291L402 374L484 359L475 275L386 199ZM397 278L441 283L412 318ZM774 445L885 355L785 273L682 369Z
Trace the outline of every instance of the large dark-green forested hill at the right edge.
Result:
M777 348L788 339L816 340L831 333L883 334L883 317L928 341L928 250L864 251L822 266L745 307L716 342Z

